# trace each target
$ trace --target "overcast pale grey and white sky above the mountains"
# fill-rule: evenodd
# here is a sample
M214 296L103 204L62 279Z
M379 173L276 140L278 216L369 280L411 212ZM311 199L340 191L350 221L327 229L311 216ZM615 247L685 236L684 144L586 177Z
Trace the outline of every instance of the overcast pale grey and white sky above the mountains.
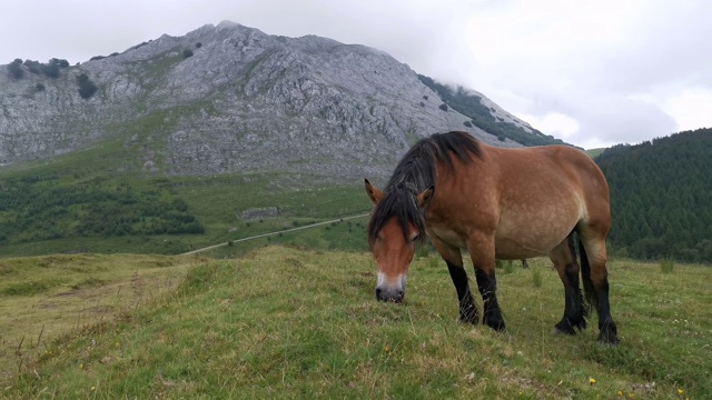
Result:
M712 127L709 0L1 0L0 63L71 64L230 20L383 50L584 148Z

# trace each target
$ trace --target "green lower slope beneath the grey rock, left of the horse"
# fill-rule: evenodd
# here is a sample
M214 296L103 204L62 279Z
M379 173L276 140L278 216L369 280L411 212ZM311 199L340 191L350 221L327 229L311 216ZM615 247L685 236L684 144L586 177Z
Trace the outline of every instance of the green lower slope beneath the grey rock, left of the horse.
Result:
M50 161L0 170L0 254L181 253L196 248L367 212L362 181L266 172L156 177L121 171L110 142ZM253 209L278 214L246 218ZM265 243L366 248L365 220L335 223Z

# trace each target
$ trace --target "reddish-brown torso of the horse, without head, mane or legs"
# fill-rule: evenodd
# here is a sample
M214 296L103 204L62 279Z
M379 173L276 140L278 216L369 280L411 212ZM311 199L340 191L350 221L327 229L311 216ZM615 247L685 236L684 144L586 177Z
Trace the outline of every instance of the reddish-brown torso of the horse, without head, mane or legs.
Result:
M454 246L473 236L491 237L501 259L547 254L575 227L587 223L592 210L596 216L607 212L605 178L576 149L482 144L481 150L481 159L459 164L456 173L442 170L436 204L428 212L434 232L444 239L462 232L461 243L448 240Z

